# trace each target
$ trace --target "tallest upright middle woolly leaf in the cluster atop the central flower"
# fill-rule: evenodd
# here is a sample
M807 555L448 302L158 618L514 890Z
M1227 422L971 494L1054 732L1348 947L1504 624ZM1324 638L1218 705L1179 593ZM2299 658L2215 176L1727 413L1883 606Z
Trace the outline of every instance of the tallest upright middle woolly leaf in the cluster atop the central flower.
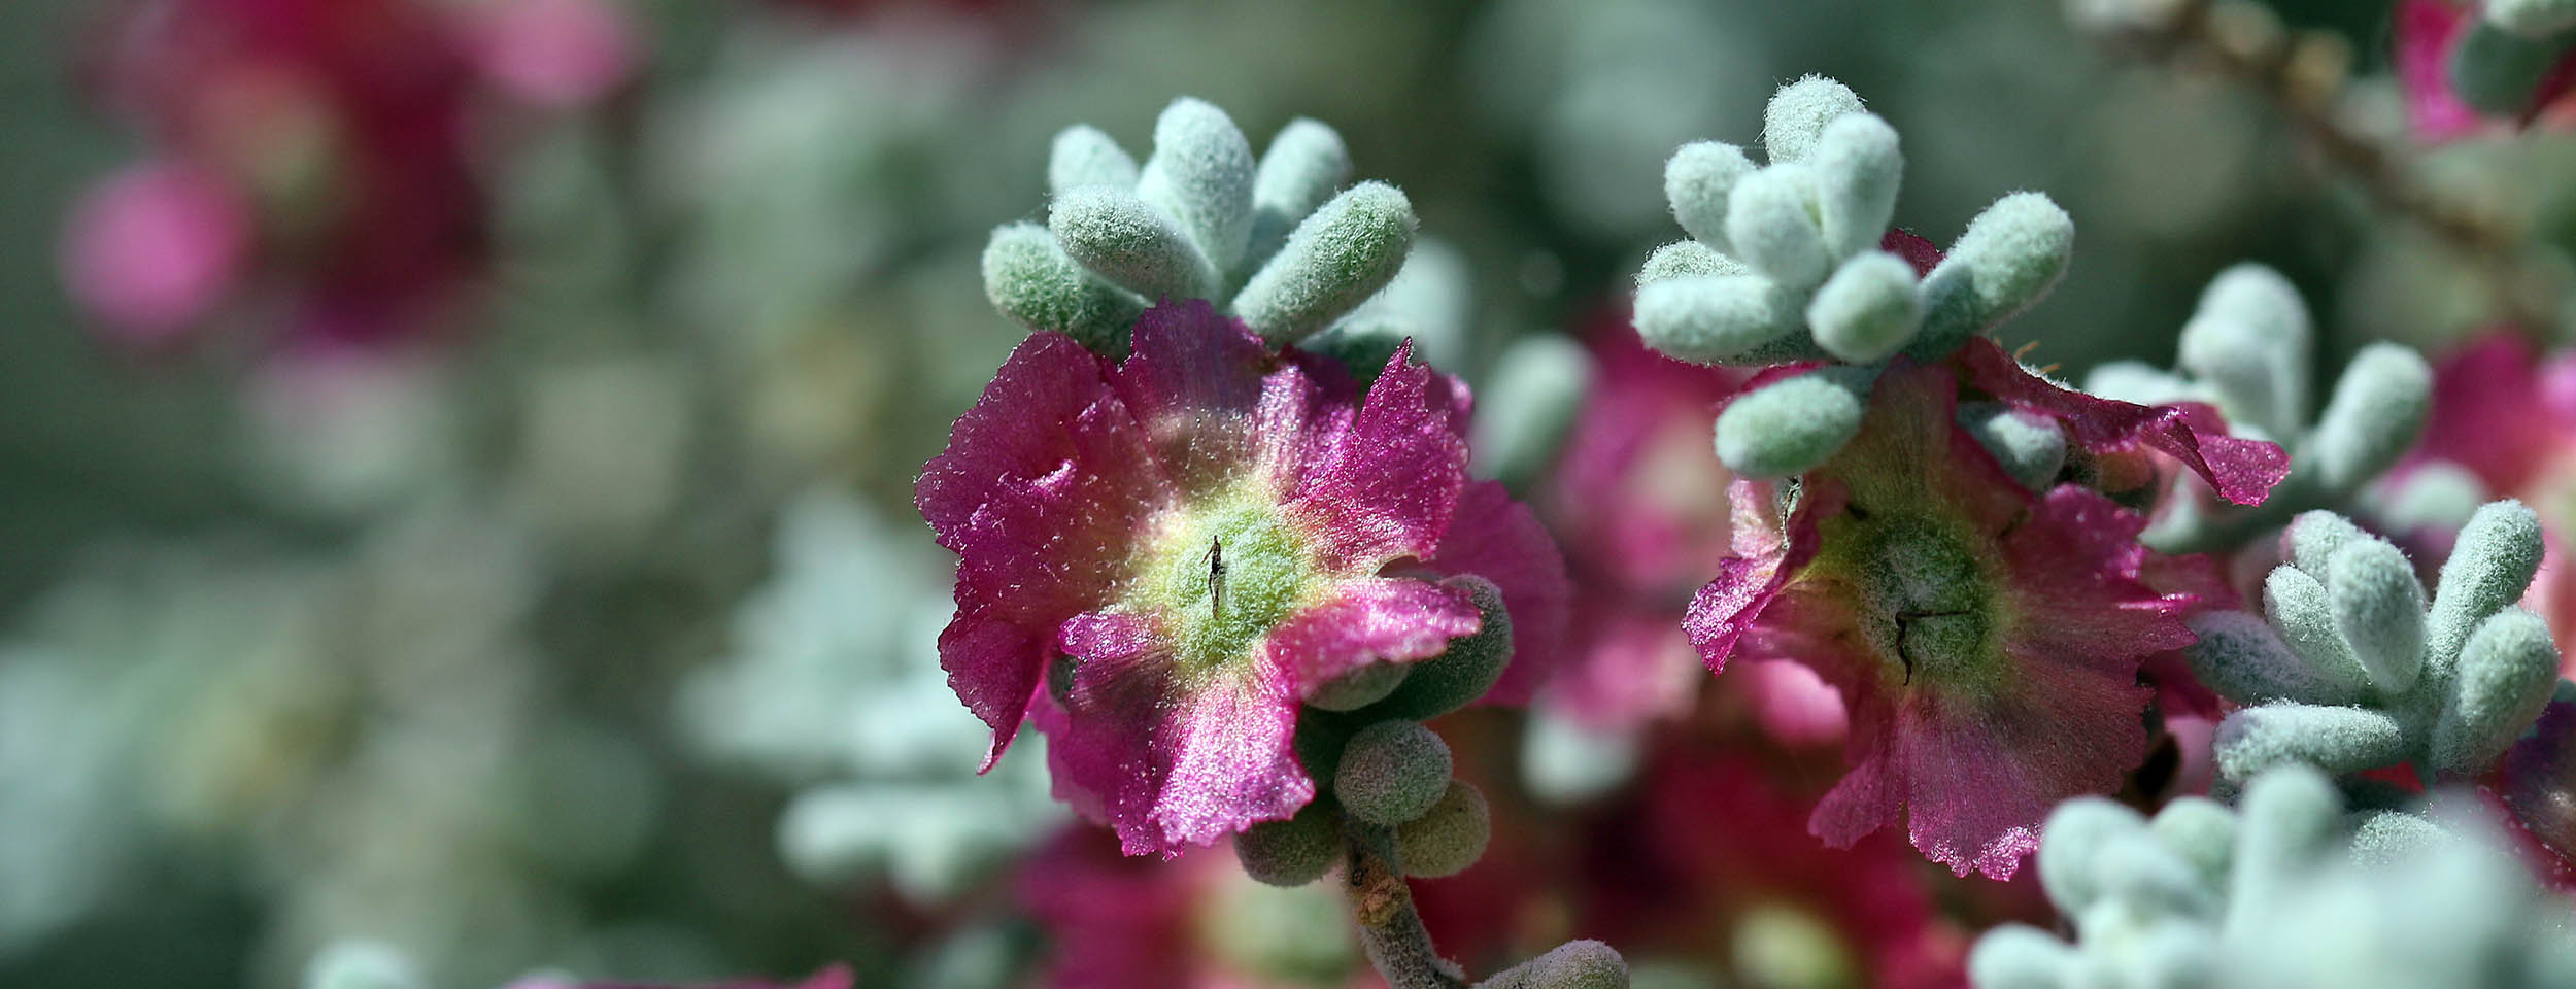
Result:
M1216 103L1182 95L1154 118L1136 198L1190 232L1216 270L1234 270L1252 242L1252 142Z

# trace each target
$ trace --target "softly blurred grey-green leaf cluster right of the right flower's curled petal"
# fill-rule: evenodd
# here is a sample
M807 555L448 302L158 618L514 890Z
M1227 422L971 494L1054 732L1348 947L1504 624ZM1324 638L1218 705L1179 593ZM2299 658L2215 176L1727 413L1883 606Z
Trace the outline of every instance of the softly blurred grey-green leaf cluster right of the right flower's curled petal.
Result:
M2352 355L2311 420L2316 325L2298 288L2257 263L2210 278L2177 350L2174 371L2105 363L2084 389L2138 404L2215 404L2236 433L2287 448L2290 476L2254 507L2174 500L2146 533L2161 551L2210 551L2295 513L2342 507L2414 448L2432 410L2432 366L2403 345L2372 343Z

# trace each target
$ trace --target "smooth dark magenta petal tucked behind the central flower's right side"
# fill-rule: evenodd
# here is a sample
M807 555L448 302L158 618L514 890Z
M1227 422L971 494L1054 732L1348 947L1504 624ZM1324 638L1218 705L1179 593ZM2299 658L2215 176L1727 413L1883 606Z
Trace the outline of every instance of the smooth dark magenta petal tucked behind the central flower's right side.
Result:
M1512 664L1484 701L1530 703L1556 672L1574 605L1566 559L1556 554L1538 515L1515 502L1502 482L1473 482L1458 494L1440 551L1425 564L1443 574L1476 574L1502 590L1502 605L1512 613Z

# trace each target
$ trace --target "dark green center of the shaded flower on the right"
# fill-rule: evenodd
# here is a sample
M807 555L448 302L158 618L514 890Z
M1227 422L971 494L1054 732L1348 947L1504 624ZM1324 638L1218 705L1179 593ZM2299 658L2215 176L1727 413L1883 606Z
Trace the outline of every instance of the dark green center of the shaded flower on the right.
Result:
M1986 543L1950 520L1855 510L1824 523L1814 574L1860 598L1860 626L1893 677L1973 688L2004 667Z

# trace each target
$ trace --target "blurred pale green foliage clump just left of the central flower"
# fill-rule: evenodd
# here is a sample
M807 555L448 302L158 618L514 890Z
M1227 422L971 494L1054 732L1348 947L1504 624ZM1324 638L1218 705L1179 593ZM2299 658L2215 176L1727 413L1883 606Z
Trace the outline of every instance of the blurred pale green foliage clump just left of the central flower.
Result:
M801 788L778 852L806 881L886 876L935 904L1061 819L1043 737L974 775L989 731L938 667L938 572L845 494L809 492L781 518L775 577L734 613L734 654L680 690L703 755Z

